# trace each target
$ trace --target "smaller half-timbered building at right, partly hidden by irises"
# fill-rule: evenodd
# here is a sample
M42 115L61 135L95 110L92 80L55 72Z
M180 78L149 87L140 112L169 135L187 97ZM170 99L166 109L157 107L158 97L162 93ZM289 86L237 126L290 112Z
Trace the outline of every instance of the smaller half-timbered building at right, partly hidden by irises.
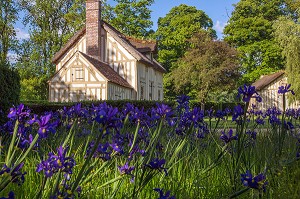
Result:
M278 88L287 84L287 77L284 71L262 76L252 84L262 97L262 102L256 102L255 99L251 99L250 104L255 104L260 110L267 110L274 106L282 110L283 96L278 94ZM298 108L300 105L299 102L289 103L287 97L285 98L285 104L286 108Z

